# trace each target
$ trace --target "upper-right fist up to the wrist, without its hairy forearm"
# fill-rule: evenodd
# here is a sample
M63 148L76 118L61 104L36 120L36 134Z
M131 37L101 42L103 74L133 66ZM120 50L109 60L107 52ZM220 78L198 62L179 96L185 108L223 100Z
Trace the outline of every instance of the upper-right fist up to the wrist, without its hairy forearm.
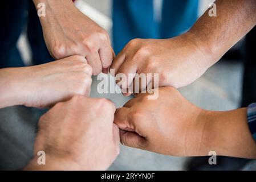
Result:
M188 32L173 39L131 40L113 60L111 69L115 69L115 76L124 73L127 78L129 73L159 73L159 87L186 86L210 67L210 57L201 51L205 48L200 49L194 39ZM150 82L147 80L147 84ZM127 80L127 84L129 88L135 85L133 79ZM147 86L141 85L140 91Z

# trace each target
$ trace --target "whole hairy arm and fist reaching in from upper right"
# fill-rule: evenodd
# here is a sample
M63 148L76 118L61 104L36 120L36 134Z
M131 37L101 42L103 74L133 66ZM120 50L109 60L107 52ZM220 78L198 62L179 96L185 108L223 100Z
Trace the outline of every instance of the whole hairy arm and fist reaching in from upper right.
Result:
M115 69L115 76L124 73L128 78L128 73L159 73L159 86L174 88L195 81L256 24L254 0L215 3L217 17L210 17L209 10L206 11L181 36L131 40L113 60L111 68ZM132 80L127 79L127 85L122 89L132 91ZM141 90L146 88L147 84L141 85Z

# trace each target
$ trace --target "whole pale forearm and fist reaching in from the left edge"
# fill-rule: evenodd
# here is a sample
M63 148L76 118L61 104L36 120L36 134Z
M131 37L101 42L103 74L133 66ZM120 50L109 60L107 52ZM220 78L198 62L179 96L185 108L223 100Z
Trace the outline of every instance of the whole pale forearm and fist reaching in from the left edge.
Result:
M89 96L92 68L82 56L47 64L0 70L0 108L51 107L72 96Z

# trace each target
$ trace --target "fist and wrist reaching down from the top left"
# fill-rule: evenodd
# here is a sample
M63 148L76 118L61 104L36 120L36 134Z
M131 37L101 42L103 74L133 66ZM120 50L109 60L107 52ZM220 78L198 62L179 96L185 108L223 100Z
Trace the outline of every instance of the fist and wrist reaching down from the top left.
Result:
M46 5L46 16L40 17L40 22L46 46L55 59L80 55L91 65L92 75L108 72L114 53L107 31L76 9L72 1L33 2L36 7Z

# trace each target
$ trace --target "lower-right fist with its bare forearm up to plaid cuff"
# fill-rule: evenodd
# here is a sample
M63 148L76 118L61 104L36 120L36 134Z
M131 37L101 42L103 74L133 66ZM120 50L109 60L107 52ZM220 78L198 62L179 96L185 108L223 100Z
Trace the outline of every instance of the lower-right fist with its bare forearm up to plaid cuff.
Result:
M116 110L114 122L125 146L172 156L206 156L216 151L256 159L246 108L202 110L172 87L159 88L157 100L139 94Z

